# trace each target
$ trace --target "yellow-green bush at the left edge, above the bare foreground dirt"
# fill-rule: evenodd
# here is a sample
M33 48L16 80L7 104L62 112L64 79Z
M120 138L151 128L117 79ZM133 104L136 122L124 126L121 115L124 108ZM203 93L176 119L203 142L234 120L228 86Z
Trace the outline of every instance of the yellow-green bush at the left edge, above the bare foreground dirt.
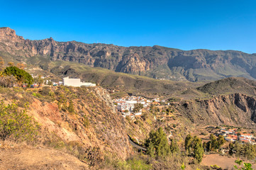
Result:
M33 141L38 135L39 125L26 114L24 106L22 111L18 110L15 103L5 105L0 103L0 138L1 140L14 140L17 142Z

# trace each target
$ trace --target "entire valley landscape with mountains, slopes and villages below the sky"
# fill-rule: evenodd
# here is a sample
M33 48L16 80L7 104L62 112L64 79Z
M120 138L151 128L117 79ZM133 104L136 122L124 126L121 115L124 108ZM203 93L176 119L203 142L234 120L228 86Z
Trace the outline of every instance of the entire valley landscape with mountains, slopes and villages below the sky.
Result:
M255 54L0 28L0 57L0 168L228 169L238 157L255 168Z

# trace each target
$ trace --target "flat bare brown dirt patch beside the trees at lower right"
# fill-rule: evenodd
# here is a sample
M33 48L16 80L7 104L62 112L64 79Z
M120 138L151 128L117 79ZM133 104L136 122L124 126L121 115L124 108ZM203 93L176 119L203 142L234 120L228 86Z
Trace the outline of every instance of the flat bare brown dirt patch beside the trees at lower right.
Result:
M201 162L202 165L211 166L218 165L223 169L232 169L235 165L236 158L234 157L224 157L219 154L208 154L203 158ZM252 169L256 169L256 164L252 164Z

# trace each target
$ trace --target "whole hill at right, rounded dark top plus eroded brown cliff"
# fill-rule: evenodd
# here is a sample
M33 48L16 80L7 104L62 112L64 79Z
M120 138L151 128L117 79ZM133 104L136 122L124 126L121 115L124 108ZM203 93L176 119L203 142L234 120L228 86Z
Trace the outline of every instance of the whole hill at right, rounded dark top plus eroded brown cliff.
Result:
M230 77L183 93L194 96L172 105L195 125L256 128L256 81Z

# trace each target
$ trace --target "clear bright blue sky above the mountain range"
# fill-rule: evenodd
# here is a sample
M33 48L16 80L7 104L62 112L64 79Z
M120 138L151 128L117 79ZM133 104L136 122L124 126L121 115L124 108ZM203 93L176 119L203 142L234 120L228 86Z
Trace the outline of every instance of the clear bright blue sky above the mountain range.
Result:
M30 40L256 53L256 1L2 1L0 27Z

